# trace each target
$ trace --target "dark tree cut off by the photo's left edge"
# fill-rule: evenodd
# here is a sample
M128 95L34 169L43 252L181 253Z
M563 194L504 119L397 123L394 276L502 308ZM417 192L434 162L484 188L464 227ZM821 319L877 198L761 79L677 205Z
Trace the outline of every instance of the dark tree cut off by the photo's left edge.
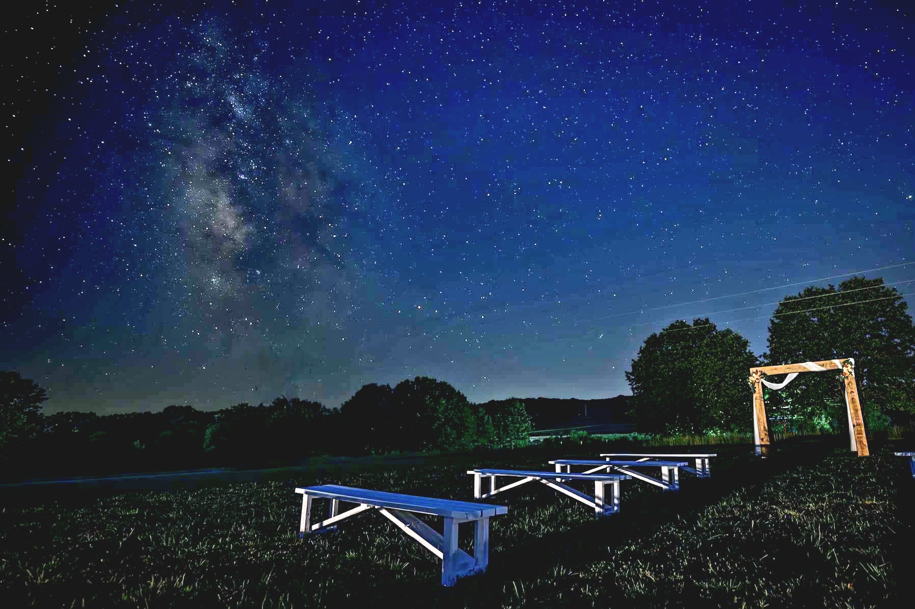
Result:
M0 452L41 431L41 404L48 393L14 370L0 370Z

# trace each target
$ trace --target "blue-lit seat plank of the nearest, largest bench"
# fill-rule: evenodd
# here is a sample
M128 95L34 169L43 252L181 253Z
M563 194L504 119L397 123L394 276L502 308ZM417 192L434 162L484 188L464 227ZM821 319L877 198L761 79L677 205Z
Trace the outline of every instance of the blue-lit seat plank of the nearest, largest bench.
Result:
M401 495L400 493L387 493L366 488L354 488L352 486L308 486L307 488L296 488L296 493L300 495L307 493L313 497L328 497L352 503L366 503L377 508L404 509L420 514L460 518L463 520L475 520L508 512L508 508L505 506L438 499L436 497Z

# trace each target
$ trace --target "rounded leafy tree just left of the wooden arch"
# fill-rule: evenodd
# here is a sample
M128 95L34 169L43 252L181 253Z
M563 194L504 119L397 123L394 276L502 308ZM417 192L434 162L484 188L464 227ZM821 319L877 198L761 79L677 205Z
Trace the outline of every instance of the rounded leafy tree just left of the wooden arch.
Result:
M759 359L746 338L706 319L677 321L652 334L632 360L626 379L631 413L655 433L748 430L753 414L747 375Z

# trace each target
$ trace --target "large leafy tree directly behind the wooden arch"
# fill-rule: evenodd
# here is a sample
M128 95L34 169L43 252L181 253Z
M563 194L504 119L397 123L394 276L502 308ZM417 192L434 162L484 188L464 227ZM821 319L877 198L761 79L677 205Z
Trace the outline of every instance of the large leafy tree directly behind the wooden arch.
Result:
M908 305L883 280L852 277L838 289L808 287L788 296L769 326L770 365L855 358L859 399L873 428L886 415L915 414L915 326ZM802 374L773 404L804 420L845 422L842 384L834 373Z

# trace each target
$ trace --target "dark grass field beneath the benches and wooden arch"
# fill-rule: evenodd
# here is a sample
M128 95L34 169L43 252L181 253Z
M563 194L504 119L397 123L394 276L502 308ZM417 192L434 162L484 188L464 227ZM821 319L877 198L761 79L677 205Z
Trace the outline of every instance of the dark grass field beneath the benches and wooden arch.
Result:
M915 485L887 449L858 459L798 442L759 460L746 446L723 447L712 480L682 475L681 493L624 483L622 511L606 521L522 486L493 501L509 513L491 520L489 572L450 589L438 585L440 562L378 514L298 538L296 486L472 500L470 466L594 456L551 450L5 497L0 598L10 607L910 606Z

